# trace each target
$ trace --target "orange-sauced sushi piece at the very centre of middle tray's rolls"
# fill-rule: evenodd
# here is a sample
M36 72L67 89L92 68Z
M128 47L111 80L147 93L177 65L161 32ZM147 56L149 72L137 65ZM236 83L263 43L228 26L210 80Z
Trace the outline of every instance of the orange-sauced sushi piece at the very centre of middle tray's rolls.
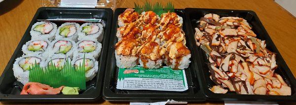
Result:
M156 25L146 25L142 30L142 35L140 37L141 43L144 43L146 41L156 41L158 44L160 44L160 40L157 37L159 33L159 30Z

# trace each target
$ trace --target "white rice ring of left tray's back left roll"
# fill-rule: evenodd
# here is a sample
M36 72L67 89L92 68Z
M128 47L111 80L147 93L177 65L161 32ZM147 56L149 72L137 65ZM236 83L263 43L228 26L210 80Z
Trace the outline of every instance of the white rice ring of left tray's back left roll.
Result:
M32 26L31 31L30 31L30 34L32 36L32 39L35 39L35 38L37 38L37 39L48 39L50 41L54 39L54 35L57 32L57 25L55 23L50 22L53 25L53 29L48 34L42 34L42 33L38 32L38 31L35 31L34 30L34 28L37 25L44 24L44 23L46 23L46 22L45 21L41 21L41 22L35 23Z

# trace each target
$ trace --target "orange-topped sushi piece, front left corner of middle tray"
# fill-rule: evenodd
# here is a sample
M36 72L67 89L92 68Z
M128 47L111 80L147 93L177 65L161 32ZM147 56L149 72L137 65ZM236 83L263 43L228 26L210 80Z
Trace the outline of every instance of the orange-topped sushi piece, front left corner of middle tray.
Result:
M115 44L115 59L118 68L133 68L138 64L136 39L121 40Z

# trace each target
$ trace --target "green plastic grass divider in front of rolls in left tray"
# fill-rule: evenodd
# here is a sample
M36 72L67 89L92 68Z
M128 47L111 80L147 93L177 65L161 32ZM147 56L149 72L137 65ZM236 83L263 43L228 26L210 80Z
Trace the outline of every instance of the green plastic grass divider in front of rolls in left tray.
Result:
M69 87L79 87L81 90L86 89L85 83L85 59L83 63L75 68L69 60L63 68L55 67L55 65L50 62L45 68L41 68L39 64L35 63L30 69L29 81L30 82L39 82L47 84L54 88L60 86L69 86Z

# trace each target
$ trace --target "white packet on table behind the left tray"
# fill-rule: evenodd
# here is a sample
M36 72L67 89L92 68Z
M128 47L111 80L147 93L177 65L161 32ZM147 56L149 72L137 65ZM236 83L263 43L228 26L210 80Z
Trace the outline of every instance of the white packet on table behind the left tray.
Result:
M61 0L60 7L88 7L94 8L98 0Z

